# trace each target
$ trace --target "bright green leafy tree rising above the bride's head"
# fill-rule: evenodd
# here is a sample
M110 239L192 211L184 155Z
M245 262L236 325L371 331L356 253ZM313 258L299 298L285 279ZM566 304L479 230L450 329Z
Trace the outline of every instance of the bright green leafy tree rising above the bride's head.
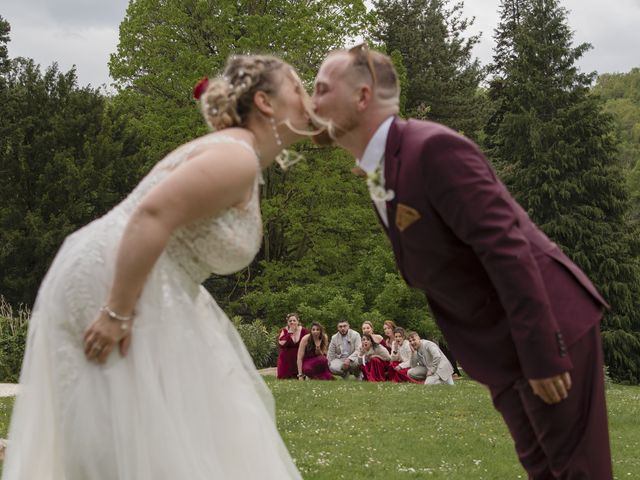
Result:
M191 90L230 55L275 52L309 81L326 52L367 22L362 1L134 0L109 69L151 165L206 132Z

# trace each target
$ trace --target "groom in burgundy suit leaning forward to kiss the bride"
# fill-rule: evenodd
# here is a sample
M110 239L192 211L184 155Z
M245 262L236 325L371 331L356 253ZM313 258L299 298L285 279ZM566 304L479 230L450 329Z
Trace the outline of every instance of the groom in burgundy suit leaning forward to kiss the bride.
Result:
M358 159L406 282L487 385L531 479L612 478L599 323L607 304L529 219L477 145L398 114L389 57L332 52L313 101Z

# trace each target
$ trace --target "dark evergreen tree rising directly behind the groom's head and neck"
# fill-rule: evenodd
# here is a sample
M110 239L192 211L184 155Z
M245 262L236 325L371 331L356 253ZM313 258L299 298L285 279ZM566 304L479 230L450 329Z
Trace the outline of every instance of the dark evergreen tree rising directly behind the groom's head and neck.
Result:
M473 20L462 18L462 2L377 0L374 38L387 52L399 52L406 68L407 116L426 118L475 137L484 125L484 77L472 59L477 35L465 38ZM397 63L397 62L396 62Z

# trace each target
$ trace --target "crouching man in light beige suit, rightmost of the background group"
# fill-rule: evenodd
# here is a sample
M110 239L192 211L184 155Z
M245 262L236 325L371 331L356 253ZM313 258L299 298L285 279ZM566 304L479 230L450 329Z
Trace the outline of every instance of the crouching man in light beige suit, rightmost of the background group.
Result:
M421 339L416 332L409 332L407 337L411 345L409 376L414 380L424 380L425 385L453 385L453 367L438 345Z

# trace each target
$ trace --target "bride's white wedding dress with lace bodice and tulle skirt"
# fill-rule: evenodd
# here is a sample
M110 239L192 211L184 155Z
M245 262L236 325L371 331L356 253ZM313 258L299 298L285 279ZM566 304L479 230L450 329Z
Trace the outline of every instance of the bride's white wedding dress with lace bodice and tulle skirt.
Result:
M252 199L174 232L136 306L132 344L88 362L124 227L143 196L211 134L163 159L121 204L69 236L38 293L5 480L283 480L300 475L238 333L200 286L246 267L262 240Z

